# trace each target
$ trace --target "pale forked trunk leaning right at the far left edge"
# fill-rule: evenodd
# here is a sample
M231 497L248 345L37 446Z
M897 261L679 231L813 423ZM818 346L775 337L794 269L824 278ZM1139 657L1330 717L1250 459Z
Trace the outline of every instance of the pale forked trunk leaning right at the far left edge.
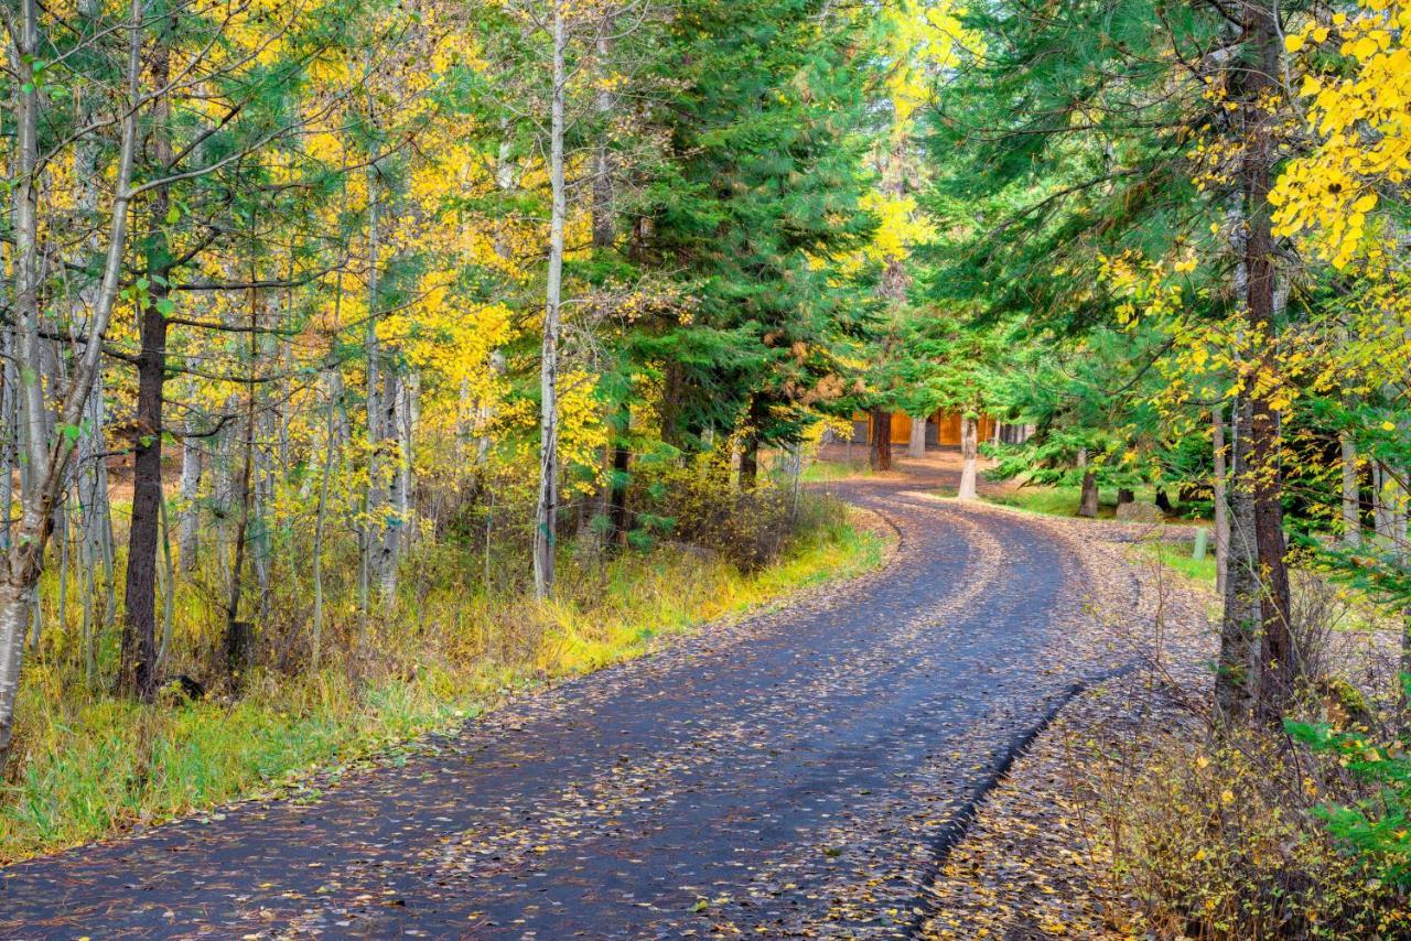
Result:
M21 49L37 49L37 4L35 0L21 1L23 35L14 38ZM127 248L127 210L131 202L133 155L137 144L135 103L138 100L138 79L141 76L141 27L143 0L133 0L128 14L126 73L130 107L127 107L123 117L117 172L113 178L113 212L109 224L107 254L103 261L103 282L93 308L93 316L89 320L87 343L83 347L82 358L75 364L73 381L69 384L62 408L59 409L63 427L76 426L83 416L83 408L93 388L93 380L103 353L102 339L107 333L113 303L117 299L120 288L123 254ZM21 54L21 58L25 58L25 54ZM32 72L28 63L24 68L27 72ZM32 79L32 75L28 78ZM28 114L30 130L21 131L21 135L32 134L34 93L27 93L21 87L20 95L30 99L30 106L23 109L23 113ZM20 254L17 253L16 258L18 260L18 257ZM28 312L17 305L16 313L17 319L20 319L25 317ZM34 313L37 315L38 312L35 310ZM30 333L25 344L32 344L37 340L38 323L28 319L24 319L23 323L25 332ZM38 387L38 377L27 375L23 380L25 398L37 401L42 412L44 389ZM0 577L0 767L4 766L14 735L14 703L20 690L20 669L24 657L25 612L34 600L35 587L42 574L44 547L54 521L54 506L62 495L65 471L69 459L73 456L73 450L75 443L68 435L55 436L52 449L45 456L44 474L40 478L41 485L35 491L24 494L20 526L16 532L14 545L6 557L7 564L3 577Z

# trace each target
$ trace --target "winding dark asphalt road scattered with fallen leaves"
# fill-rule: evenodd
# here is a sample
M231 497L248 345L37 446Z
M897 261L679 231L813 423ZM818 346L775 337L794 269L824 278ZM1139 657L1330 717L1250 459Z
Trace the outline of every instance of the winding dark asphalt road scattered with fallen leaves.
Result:
M0 937L903 937L1075 680L1091 576L1020 515L847 484L878 574L526 697L315 803L0 872Z

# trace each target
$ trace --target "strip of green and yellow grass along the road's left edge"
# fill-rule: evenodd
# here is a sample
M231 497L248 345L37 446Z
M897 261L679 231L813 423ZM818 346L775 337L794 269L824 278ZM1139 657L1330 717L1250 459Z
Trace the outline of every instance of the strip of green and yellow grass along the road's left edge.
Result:
M435 633L374 631L361 655L319 673L257 670L238 698L140 705L75 681L72 657L37 656L0 790L0 863L292 786L454 725L508 690L639 656L885 554L883 536L840 518L752 574L660 546L614 559L549 605L446 584L423 605L442 621Z

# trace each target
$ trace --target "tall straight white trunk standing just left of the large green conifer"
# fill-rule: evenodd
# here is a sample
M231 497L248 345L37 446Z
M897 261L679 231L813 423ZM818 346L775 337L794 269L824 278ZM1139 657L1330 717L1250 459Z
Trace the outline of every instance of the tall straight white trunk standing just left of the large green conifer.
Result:
M553 591L555 525L559 516L559 308L563 300L563 230L567 200L563 181L564 62L567 30L564 0L553 3L553 100L550 102L549 178L553 212L549 224L549 279L543 312L543 351L539 363L539 499L535 508L533 587L536 598Z

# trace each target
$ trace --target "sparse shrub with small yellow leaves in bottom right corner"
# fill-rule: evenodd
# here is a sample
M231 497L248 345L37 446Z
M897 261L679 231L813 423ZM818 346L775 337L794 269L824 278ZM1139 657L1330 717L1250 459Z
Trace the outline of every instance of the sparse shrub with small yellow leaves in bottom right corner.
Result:
M1163 734L1150 746L1151 759L1101 801L1139 933L1346 938L1411 930L1398 886L1322 827L1315 807L1336 784L1287 739L1247 729L1222 739Z

